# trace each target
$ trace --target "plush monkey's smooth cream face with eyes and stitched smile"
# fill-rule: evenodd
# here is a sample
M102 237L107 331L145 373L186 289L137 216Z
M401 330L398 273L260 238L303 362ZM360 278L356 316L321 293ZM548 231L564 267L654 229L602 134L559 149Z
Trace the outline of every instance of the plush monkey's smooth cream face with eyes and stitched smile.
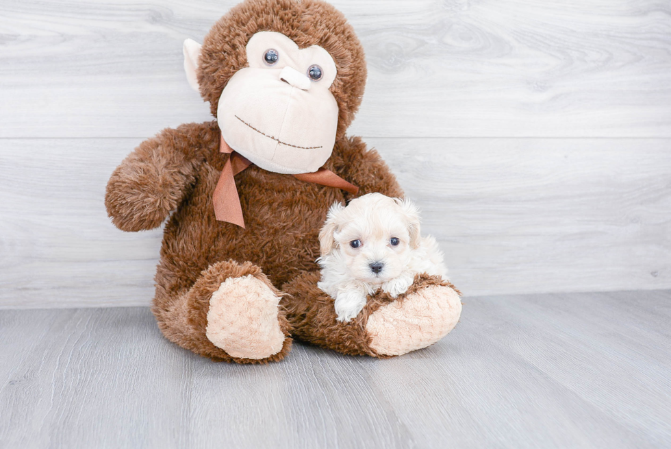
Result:
M221 93L217 119L226 143L255 165L277 173L317 171L331 156L338 104L329 88L329 53L299 49L277 32L257 32L246 45L249 66Z

